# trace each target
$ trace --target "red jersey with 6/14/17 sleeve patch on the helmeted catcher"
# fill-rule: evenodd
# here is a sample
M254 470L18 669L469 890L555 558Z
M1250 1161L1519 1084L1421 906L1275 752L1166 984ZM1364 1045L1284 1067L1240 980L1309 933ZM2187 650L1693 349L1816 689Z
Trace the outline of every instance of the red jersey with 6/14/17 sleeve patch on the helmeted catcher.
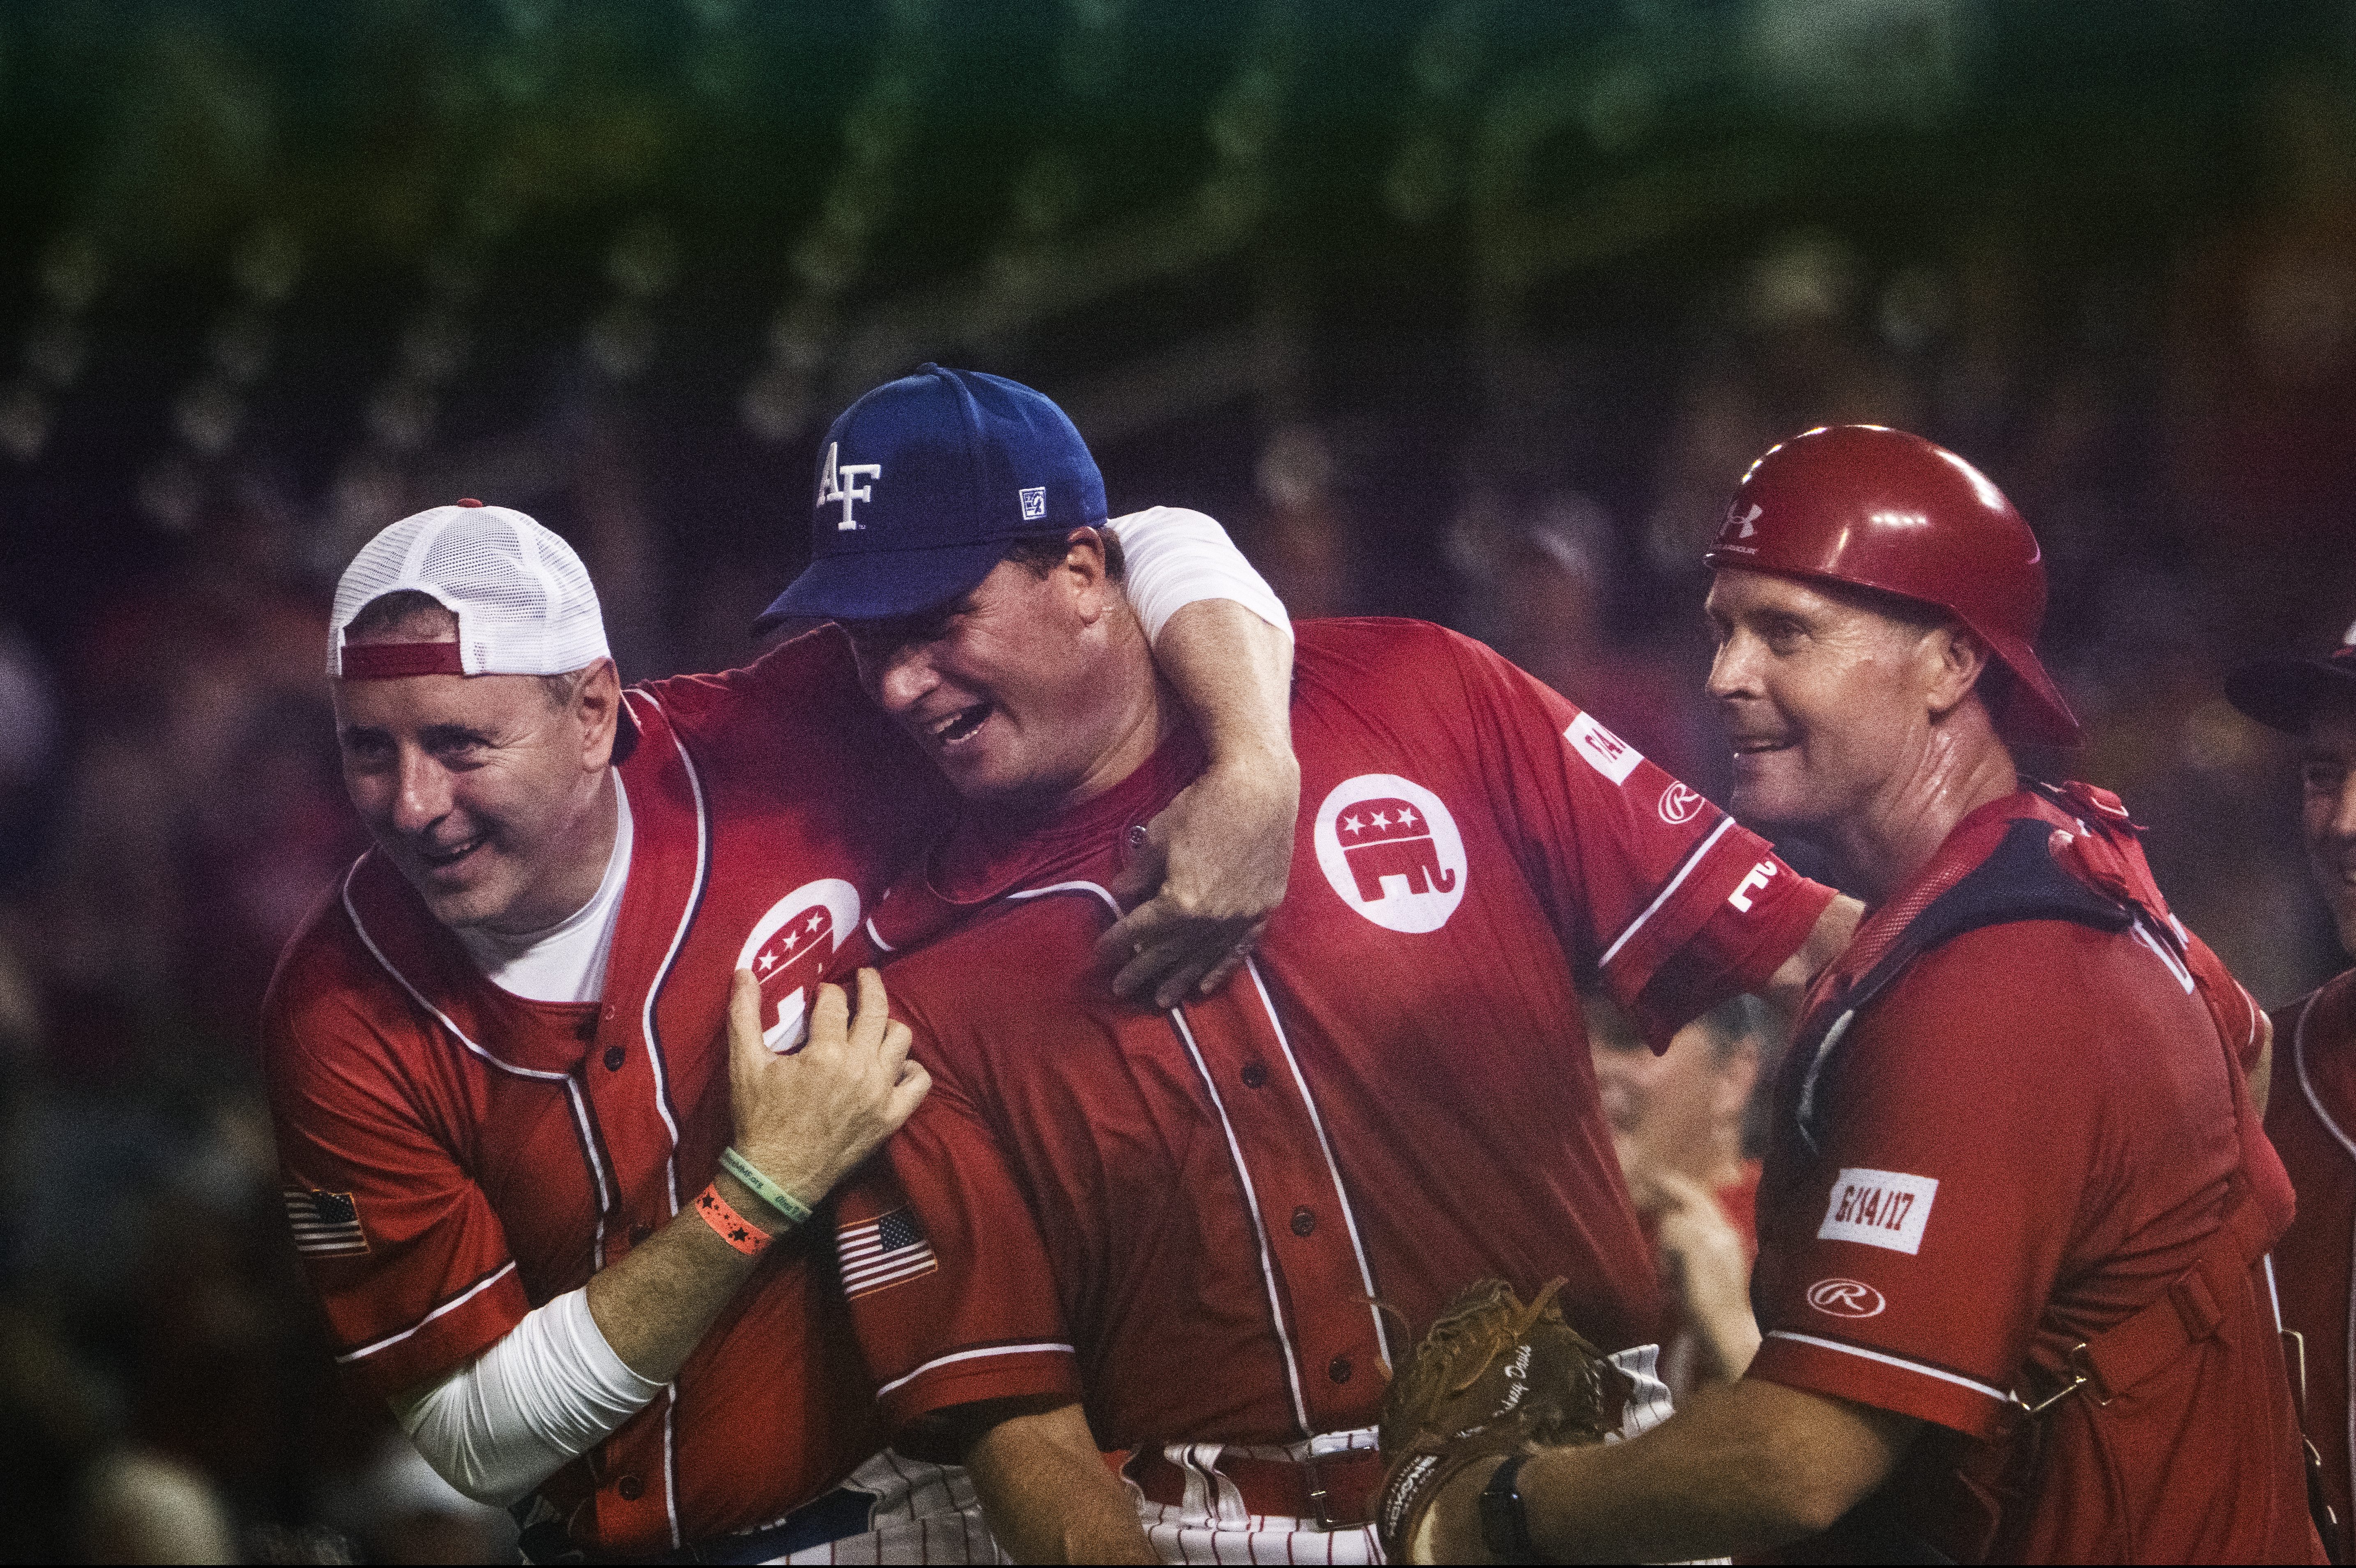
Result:
M1861 979L1857 954L1991 862L2021 819L2062 829L2036 831L2040 862L2087 829L2036 793L1965 817L1812 1001ZM2111 930L1965 930L1847 1019L1821 1048L1802 1026L1776 1085L1751 1377L1934 1424L1864 1514L1958 1561L2311 1561L2290 1394L2250 1267L2288 1215L2288 1182L2243 1085L2248 994L2160 906ZM2080 1389L2029 1417L2014 1396L2062 1389L2076 1342L2170 1297L2236 1194L2271 1220L2219 1290L2186 1295L2186 1314L2217 1297L2210 1333L2109 1403ZM1793 1561L1819 1552L1840 1547L1800 1542Z

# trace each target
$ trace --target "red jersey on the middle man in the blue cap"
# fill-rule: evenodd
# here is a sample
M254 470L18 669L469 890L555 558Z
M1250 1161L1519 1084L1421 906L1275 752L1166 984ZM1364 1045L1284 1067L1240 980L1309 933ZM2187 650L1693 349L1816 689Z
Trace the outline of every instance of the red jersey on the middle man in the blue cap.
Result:
M961 921L891 970L933 1095L841 1210L895 1424L1084 1394L1105 1448L1364 1427L1484 1274L1654 1337L1574 975L1666 1043L1831 892L1437 626L1298 626L1293 746L1291 890L1209 1001L1131 1008L1086 963L1190 737L1044 829L973 815L893 890L879 939Z

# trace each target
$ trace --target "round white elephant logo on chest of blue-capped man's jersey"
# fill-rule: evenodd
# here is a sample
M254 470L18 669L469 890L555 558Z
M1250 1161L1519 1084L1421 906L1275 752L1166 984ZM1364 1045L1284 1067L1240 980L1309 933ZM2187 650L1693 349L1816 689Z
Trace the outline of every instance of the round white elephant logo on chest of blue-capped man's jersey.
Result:
M1440 796L1395 772L1336 784L1317 808L1317 866L1383 930L1440 930L1465 897L1465 841Z

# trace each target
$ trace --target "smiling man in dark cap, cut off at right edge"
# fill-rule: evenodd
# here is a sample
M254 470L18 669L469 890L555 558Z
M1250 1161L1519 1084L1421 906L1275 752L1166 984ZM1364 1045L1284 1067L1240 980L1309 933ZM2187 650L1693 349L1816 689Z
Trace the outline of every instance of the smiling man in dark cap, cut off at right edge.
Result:
M2250 718L2299 739L2307 864L2332 911L2340 946L2356 954L2356 626L2323 659L2262 659L2233 671L2224 695ZM2351 1241L2356 1241L2356 970L2274 1012L2278 1071L2266 1135L2290 1170L2299 1212L2274 1248L2283 1323L2297 1335L2302 1424L2332 1509L2337 1561L2356 1552L2349 1462L2356 1401Z

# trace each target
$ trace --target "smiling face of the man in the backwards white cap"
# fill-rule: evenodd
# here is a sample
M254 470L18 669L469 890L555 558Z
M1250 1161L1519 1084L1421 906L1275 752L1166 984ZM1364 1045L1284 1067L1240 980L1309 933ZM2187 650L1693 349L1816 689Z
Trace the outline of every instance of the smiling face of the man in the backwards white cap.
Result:
M558 706L540 676L337 680L344 789L443 925L544 930L613 852L613 662Z

